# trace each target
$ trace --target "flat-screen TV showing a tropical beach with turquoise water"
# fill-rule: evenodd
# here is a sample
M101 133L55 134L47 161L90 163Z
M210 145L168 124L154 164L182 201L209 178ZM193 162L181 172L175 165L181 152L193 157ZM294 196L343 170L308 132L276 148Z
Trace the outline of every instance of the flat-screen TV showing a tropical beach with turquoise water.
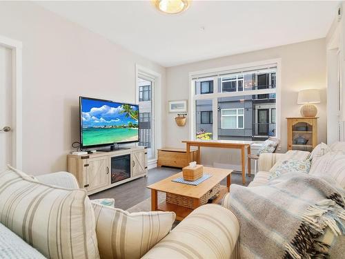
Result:
M81 147L139 141L139 106L79 97Z

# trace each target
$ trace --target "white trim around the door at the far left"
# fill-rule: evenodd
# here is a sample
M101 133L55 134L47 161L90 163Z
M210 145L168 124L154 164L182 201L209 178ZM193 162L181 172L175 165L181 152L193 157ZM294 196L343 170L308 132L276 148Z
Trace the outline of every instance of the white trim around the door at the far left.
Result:
M0 35L0 45L12 50L12 165L23 167L23 44Z

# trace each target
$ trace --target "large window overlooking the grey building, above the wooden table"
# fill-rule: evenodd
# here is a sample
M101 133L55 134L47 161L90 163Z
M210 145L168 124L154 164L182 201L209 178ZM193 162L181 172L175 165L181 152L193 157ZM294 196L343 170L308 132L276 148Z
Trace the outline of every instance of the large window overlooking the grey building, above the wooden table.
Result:
M191 73L193 106L190 112L194 116L190 117L193 122L190 132L194 137L266 140L279 135L278 63L255 62L255 66L244 64L228 70L221 68L219 72L213 69L204 75Z

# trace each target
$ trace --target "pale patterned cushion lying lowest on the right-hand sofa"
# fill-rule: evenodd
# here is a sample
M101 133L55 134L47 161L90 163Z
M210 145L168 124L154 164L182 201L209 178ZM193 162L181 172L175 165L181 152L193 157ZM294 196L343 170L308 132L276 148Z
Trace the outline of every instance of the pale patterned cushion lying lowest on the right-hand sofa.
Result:
M272 169L270 169L270 176L268 179L271 180L279 175L289 172L309 173L310 170L310 160L280 160Z

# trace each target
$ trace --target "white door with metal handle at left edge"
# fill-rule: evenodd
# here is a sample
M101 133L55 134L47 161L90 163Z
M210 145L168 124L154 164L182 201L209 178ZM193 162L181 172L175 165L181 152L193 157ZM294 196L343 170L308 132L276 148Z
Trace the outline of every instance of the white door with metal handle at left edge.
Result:
M12 50L0 46L0 171L12 164Z

